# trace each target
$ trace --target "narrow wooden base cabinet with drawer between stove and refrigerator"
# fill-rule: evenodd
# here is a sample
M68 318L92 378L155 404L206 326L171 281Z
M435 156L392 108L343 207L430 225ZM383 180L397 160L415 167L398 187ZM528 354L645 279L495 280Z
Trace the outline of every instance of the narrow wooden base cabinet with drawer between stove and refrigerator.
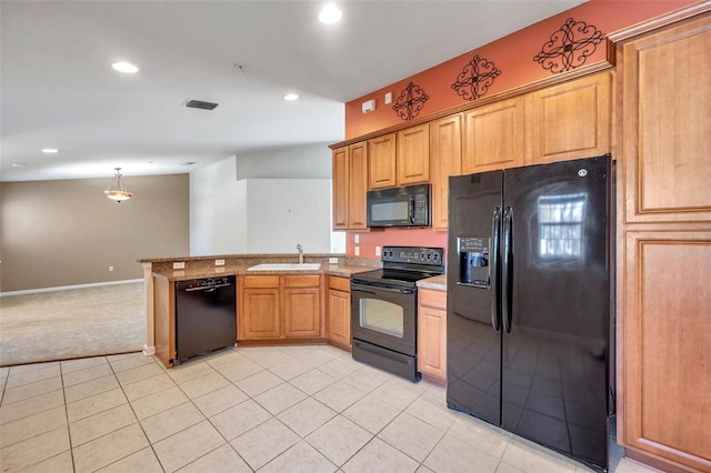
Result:
M447 292L418 290L418 371L447 382Z

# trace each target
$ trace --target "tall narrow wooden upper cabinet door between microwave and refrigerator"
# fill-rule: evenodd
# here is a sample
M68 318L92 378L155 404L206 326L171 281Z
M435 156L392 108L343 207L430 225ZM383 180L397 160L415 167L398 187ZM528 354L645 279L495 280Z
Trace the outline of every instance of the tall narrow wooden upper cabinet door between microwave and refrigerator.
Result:
M447 230L449 177L462 171L462 115L430 123L430 178L432 180L432 227Z

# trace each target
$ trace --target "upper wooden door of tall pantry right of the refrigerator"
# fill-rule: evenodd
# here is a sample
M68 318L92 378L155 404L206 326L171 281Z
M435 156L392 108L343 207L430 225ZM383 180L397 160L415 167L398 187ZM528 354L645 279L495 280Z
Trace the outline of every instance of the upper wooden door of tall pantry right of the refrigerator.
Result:
M618 46L628 222L711 221L711 20Z

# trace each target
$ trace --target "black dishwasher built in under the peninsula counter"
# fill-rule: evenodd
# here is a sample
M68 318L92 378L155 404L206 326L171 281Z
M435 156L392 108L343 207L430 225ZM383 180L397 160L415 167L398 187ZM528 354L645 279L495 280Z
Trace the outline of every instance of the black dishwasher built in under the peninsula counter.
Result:
M236 276L176 282L176 359L209 353L237 342Z

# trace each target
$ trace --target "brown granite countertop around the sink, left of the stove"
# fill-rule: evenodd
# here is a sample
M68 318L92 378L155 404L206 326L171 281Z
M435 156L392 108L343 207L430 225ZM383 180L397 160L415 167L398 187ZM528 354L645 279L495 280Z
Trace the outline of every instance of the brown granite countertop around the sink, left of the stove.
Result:
M321 263L321 268L314 271L249 271L249 268L254 263L247 264L227 264L224 266L201 266L201 268L186 268L184 270L161 270L153 271L153 275L157 278L163 278L168 281L184 281L189 279L201 278L219 278L223 275L259 275L259 274L330 274L343 278L350 278L352 274L362 273L364 271L372 271L372 266L361 266L352 264L329 264Z

